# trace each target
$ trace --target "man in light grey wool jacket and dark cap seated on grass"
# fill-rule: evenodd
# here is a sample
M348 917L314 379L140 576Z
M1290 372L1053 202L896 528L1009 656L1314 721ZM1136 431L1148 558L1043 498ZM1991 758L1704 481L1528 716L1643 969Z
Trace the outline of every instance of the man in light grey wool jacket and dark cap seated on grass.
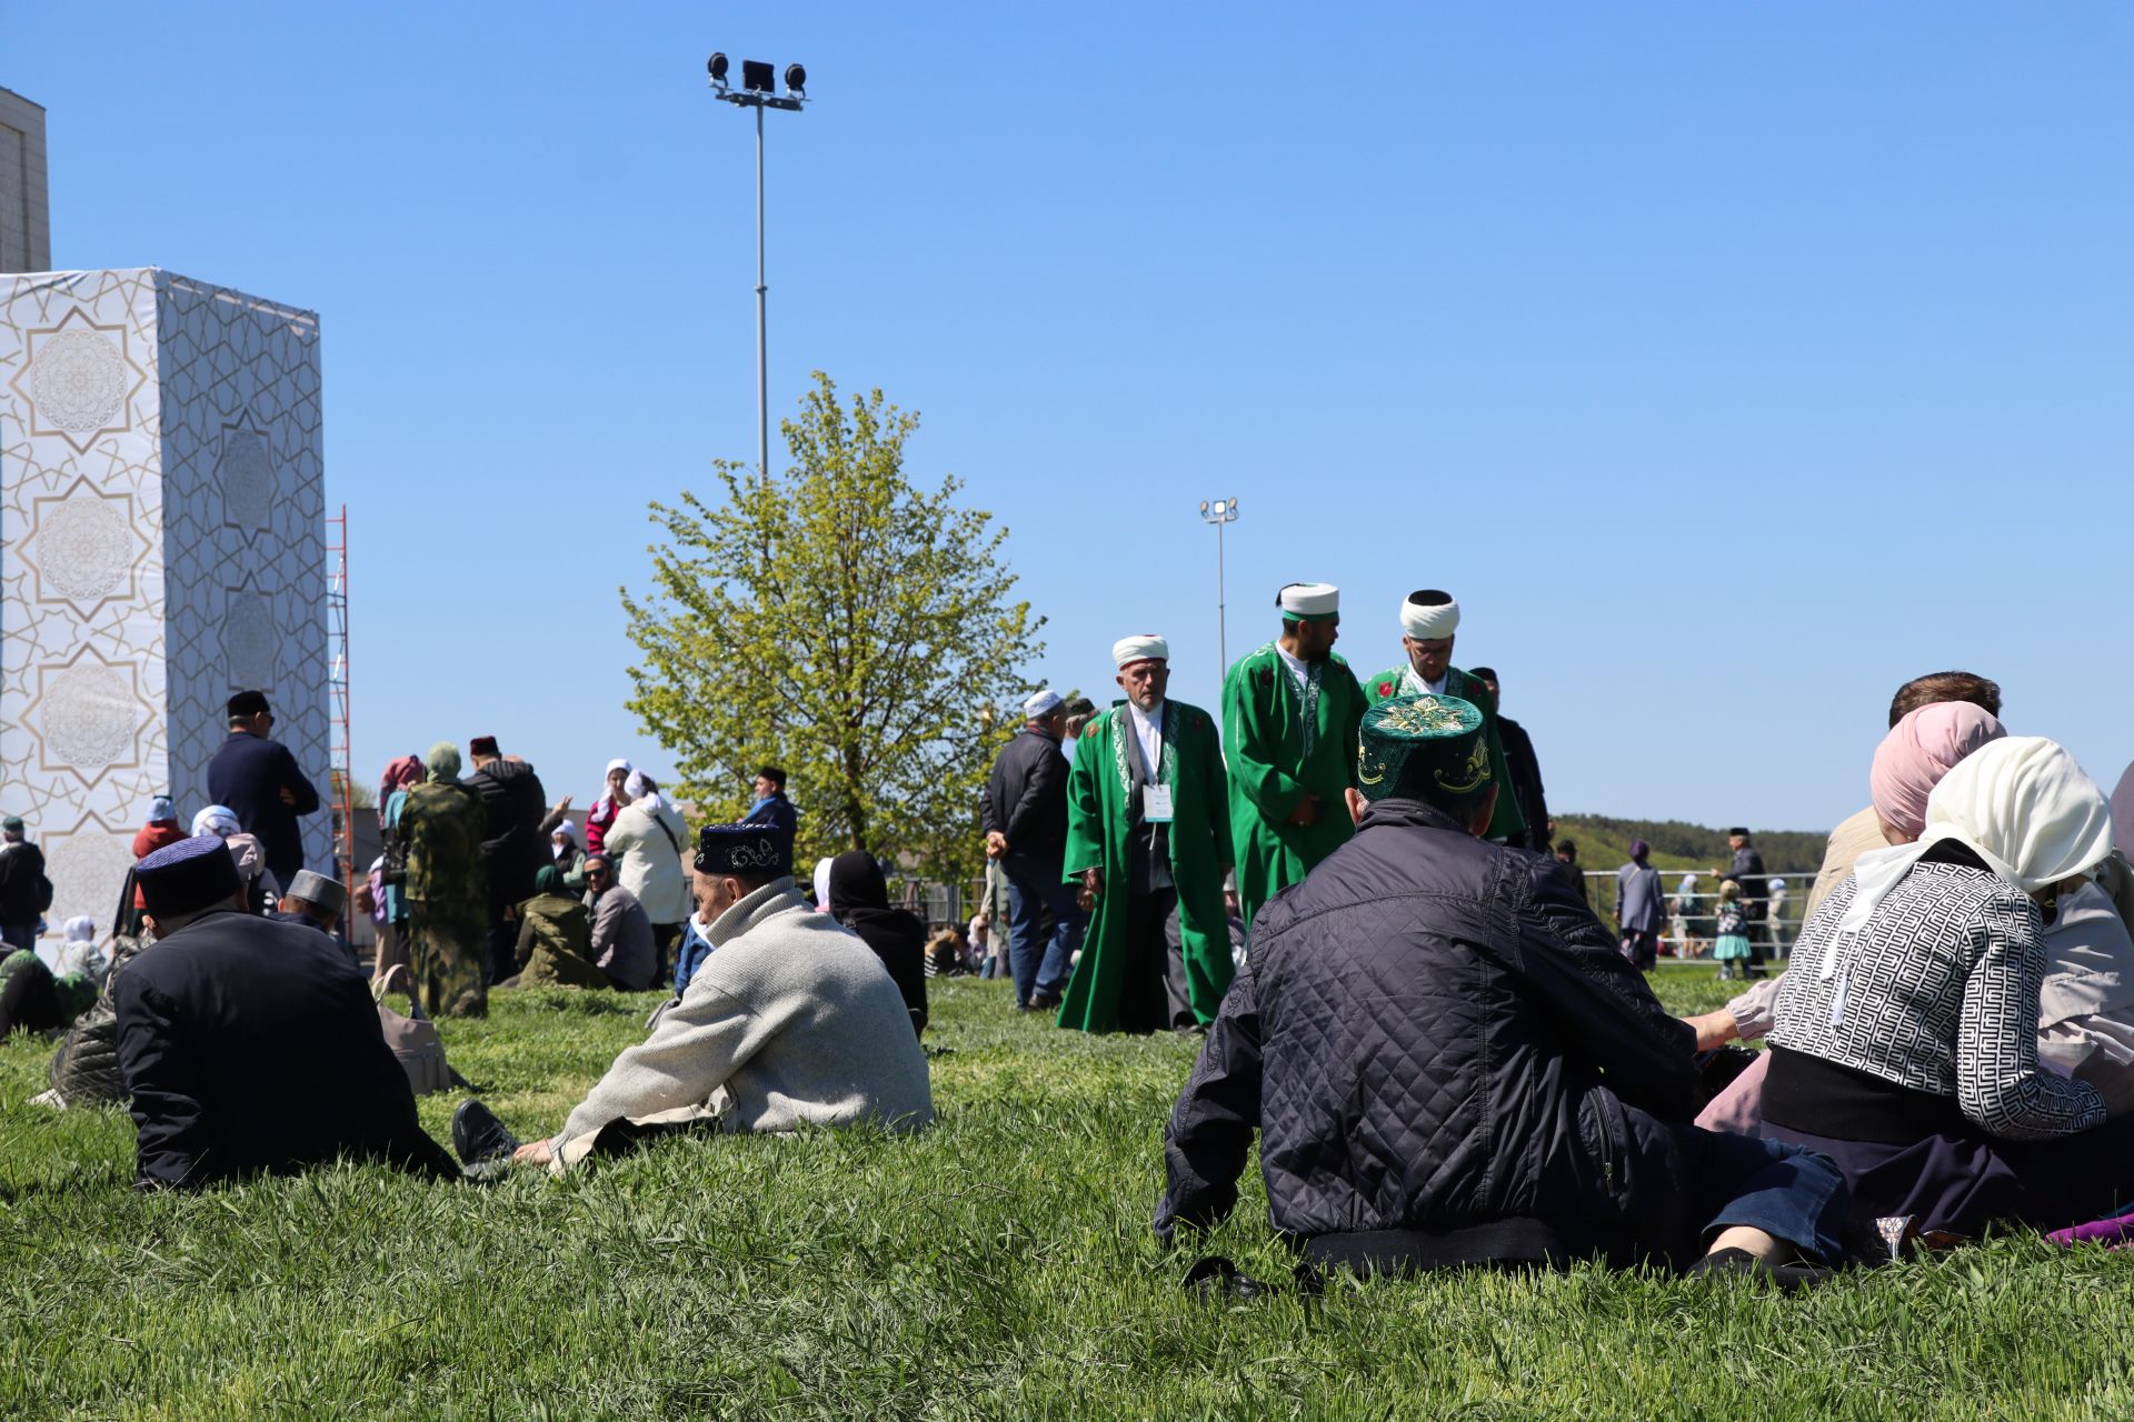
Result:
M706 825L696 895L711 957L553 1138L519 1145L487 1106L465 1102L452 1117L461 1160L510 1151L561 1175L662 1130L930 1124L926 1053L903 993L858 934L809 910L792 853L777 825Z

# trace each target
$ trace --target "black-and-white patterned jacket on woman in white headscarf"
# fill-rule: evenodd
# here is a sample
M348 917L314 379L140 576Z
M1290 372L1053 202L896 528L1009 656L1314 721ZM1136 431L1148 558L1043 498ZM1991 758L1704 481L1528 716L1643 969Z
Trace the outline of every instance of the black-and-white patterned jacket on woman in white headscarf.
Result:
M1803 925L1773 1045L1955 1096L1993 1136L2066 1136L2104 1119L2093 1085L2038 1068L2044 944L2029 895L1985 868L1921 861L1822 976L1857 887L1846 878Z

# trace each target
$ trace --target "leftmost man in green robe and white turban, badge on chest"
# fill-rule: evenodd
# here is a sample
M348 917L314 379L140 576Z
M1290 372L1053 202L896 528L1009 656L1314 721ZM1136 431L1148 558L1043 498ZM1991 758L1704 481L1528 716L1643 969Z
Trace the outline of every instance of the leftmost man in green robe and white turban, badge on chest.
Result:
M1082 1032L1191 1030L1214 1021L1236 966L1223 874L1229 778L1214 716L1172 701L1169 644L1112 646L1125 701L1082 727L1067 774L1063 878L1090 908L1058 1025ZM1178 947L1165 925L1178 917Z

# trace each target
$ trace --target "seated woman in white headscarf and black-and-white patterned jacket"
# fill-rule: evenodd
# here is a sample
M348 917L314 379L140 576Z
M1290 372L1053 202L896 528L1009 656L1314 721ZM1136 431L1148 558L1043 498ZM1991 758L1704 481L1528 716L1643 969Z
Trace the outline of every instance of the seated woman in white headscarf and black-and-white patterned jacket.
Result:
M1822 1151L1854 1219L1976 1234L2134 1200L2134 1117L2038 1062L2044 923L2111 853L2104 793L2012 736L1933 787L1918 838L1861 855L1778 1000L1763 1134ZM1893 836L1895 838L1895 836Z

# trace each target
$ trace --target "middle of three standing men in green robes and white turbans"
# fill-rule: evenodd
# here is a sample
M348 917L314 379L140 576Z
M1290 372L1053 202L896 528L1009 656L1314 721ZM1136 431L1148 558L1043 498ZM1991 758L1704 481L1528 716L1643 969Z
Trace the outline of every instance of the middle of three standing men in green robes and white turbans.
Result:
M1340 588L1291 582L1274 601L1280 640L1223 678L1229 838L1246 932L1261 904L1355 834L1342 791L1355 782L1364 689L1334 655Z

